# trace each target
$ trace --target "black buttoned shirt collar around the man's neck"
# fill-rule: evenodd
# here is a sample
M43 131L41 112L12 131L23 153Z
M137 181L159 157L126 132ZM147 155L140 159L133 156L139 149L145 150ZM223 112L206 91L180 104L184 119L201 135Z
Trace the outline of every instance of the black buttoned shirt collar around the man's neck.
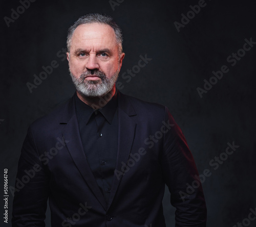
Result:
M82 118L82 120L86 124L88 124L92 115L94 116L94 112L101 112L104 118L111 124L118 106L117 97L118 95L116 90L114 96L104 107L98 110L94 110L87 104L83 103L82 100L78 98L77 93L75 93L76 113ZM104 103L104 100L102 100L102 103Z

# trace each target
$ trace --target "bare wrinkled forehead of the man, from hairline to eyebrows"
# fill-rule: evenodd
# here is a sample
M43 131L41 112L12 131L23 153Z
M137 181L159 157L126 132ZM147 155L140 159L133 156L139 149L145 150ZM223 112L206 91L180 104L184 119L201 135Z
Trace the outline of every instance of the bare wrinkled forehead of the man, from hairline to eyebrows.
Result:
M114 29L108 24L80 24L71 39L71 49L76 48L115 48L118 44Z

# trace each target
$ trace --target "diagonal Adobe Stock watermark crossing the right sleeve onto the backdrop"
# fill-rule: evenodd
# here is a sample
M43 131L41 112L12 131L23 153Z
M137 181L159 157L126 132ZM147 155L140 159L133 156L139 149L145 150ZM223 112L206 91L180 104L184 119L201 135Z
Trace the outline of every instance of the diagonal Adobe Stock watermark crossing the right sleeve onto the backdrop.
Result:
M214 159L209 161L209 166L213 167L214 170L217 170L220 165L222 165L228 159L228 157L232 155L234 151L237 150L237 148L240 147L239 145L235 145L234 141L232 144L228 142L227 145L228 146L226 147L225 152L221 153L218 157L215 156ZM206 178L211 176L211 174L212 172L210 169L204 169L202 174L195 175L196 180L194 180L191 185L186 183L186 192L179 191L182 201L184 202L186 197L189 197L191 194L193 194L195 189L199 188L200 185L206 181Z

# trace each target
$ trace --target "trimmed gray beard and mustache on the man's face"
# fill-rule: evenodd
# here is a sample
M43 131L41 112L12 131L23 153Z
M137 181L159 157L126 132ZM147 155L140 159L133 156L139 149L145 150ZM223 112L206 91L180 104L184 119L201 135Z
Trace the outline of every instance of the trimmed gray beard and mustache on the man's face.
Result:
M118 73L119 67L111 78L106 78L105 74L102 71L88 70L86 72L82 72L79 78L75 78L74 74L72 74L72 72L70 71L70 75L76 90L79 94L85 97L101 97L110 92L117 81ZM100 80L84 80L87 75L91 74L97 75Z

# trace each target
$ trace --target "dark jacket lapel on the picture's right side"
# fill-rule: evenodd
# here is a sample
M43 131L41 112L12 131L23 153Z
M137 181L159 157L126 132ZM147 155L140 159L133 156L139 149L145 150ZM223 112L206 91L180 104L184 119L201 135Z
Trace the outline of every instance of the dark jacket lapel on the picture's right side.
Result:
M118 149L117 149L117 161L115 171L121 171L122 162L126 163L129 159L132 149L136 123L132 119L136 113L128 100L123 94L118 94ZM110 207L118 186L121 182L122 174L114 174L111 194L108 202L108 208Z

